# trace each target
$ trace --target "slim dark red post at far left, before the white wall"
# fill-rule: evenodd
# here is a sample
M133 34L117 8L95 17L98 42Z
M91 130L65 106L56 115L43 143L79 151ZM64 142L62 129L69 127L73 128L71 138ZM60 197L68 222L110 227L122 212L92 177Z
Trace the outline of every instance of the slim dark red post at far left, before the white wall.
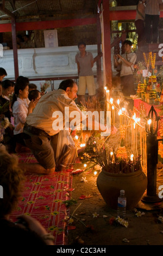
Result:
M16 44L16 22L15 18L11 18L12 27L12 48L14 57L14 71L15 71L15 81L18 77L18 56L17 56L17 44Z

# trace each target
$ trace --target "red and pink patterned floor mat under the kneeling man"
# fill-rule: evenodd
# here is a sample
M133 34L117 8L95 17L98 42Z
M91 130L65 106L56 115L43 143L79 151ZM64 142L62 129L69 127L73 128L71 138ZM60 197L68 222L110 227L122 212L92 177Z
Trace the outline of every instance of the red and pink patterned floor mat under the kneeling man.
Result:
M30 153L17 154L20 162L37 162ZM24 192L17 210L10 216L13 221L20 214L27 214L41 222L43 227L55 236L55 245L66 245L64 203L69 200L72 175L63 170L53 175L26 175Z

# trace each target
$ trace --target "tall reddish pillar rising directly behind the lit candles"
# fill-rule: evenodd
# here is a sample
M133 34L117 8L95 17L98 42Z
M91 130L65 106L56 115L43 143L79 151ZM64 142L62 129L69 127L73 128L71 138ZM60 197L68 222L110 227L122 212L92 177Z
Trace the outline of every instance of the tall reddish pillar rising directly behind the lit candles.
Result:
M109 0L103 0L103 29L104 29L104 62L105 62L105 81L109 88L112 87L111 70L111 47L110 47L110 14ZM104 84L105 86L105 84Z

